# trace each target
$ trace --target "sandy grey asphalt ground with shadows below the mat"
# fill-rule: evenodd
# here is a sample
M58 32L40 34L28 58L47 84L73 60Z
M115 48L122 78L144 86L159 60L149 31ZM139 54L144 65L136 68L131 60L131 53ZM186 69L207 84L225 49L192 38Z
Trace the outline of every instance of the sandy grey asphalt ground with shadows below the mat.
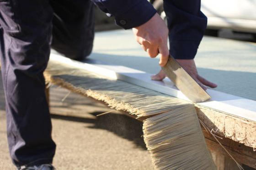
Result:
M52 86L53 165L57 170L153 170L142 123L89 98ZM0 77L0 170L15 170L9 156L4 91Z

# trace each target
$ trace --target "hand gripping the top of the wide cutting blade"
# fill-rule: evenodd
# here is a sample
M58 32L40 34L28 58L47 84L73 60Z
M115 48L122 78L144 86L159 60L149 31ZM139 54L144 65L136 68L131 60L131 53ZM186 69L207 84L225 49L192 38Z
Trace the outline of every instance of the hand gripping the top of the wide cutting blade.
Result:
M160 66L165 66L169 56L167 46L168 28L157 13L146 23L133 28L133 34L151 58L160 54Z

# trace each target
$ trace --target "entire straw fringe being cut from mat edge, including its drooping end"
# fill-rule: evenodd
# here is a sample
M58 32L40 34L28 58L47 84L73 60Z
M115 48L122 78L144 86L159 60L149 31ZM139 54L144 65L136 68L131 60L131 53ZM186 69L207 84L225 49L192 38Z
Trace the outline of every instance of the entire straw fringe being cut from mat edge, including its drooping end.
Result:
M215 170L194 105L120 80L50 60L47 82L144 120L144 141L157 170Z

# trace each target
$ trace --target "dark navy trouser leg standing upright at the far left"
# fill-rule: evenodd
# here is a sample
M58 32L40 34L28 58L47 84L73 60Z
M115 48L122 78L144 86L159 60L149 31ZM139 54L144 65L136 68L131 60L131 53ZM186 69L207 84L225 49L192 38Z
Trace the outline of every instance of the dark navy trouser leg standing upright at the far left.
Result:
M47 0L0 0L0 59L11 159L51 163L55 143L44 93L52 9Z

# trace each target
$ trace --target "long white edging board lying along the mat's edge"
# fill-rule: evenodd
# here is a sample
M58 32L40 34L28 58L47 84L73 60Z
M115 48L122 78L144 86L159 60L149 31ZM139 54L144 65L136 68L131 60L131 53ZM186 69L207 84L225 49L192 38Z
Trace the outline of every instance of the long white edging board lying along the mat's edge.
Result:
M180 90L176 88L171 80L167 78L163 81L151 80L150 76L152 74L144 71L135 70L121 65L106 64L91 59L85 60L86 62L84 63L71 60L57 54L51 54L50 60L55 60L59 63L75 66L111 79L123 80L134 85L139 85L150 90L155 90L166 95L190 101ZM208 101L197 103L197 105L208 107L213 110L219 110L229 115L234 115L256 122L256 101L211 89L208 89L207 92L212 98Z

